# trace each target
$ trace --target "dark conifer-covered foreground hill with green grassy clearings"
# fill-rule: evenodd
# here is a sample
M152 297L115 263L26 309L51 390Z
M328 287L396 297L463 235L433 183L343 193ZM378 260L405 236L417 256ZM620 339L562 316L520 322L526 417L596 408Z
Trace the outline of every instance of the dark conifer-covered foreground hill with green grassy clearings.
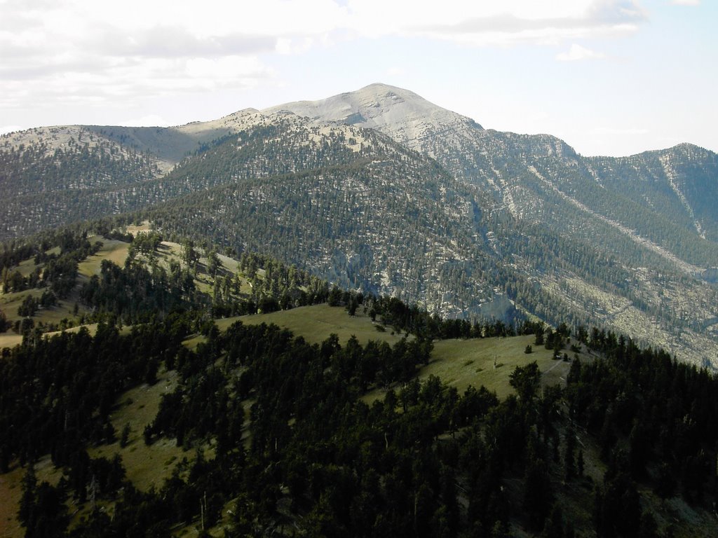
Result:
M133 228L0 258L96 323L42 334L29 313L2 350L9 536L714 535L707 369L597 328L443 320ZM270 323L300 305L297 331Z

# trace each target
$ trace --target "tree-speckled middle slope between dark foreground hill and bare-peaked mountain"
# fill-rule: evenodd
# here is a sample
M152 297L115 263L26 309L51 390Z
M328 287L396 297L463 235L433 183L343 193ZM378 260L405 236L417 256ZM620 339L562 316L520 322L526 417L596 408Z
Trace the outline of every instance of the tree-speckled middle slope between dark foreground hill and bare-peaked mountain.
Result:
M604 220L594 219L591 233L561 233L502 211L485 189L353 126L324 127L323 140L313 134L314 143L297 146L319 127L294 121L297 132L282 138L264 128L241 138L266 148L275 164L264 169L277 172L284 151L297 148L294 166L306 166L303 173L251 181L230 136L168 176L173 184L212 177L223 187L141 217L197 239L271 253L340 285L420 301L444 316L509 320L516 305L554 324L600 321L701 364L714 359L716 290L696 278L698 269L676 270ZM360 151L330 149L359 136ZM578 208L561 210L580 222Z

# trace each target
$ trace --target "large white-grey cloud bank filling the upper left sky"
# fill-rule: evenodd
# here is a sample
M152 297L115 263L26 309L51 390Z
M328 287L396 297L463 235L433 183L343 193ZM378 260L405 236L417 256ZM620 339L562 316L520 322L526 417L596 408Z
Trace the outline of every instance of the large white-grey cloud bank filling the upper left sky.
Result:
M346 17L332 0L0 5L4 108L251 87L276 76L261 55L301 54Z

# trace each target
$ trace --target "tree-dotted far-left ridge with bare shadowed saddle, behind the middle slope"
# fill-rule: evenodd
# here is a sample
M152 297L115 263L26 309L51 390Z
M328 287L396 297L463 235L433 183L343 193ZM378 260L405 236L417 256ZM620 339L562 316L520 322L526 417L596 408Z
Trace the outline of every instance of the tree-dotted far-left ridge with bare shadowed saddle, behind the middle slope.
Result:
M162 178L187 155L218 138L271 121L256 110L242 110L171 128L55 126L1 136L0 239L118 214L177 195L165 194L163 185L151 180ZM199 188L200 184L193 187Z

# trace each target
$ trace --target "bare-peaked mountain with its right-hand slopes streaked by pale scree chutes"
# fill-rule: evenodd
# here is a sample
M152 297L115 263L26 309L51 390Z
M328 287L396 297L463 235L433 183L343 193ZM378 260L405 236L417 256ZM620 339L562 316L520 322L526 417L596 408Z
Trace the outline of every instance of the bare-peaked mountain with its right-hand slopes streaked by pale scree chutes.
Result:
M485 130L414 93L381 84L268 111L279 109L316 122L373 128L432 156L486 196L484 213L500 222L492 232L505 247L501 259L510 256L518 273L557 296L559 308L579 306L593 319L640 332L672 351L687 346L715 360L716 291L706 283L714 283L718 265L718 209L707 202L718 189L718 156L712 151L681 144L619 159L584 157L553 136ZM559 249L559 265L575 262L585 245L592 252L589 274L597 265L624 274L610 285L596 285L586 273L532 263L516 252L517 240L525 237L544 250L546 241L536 237L541 234L557 236L548 245L579 245Z

